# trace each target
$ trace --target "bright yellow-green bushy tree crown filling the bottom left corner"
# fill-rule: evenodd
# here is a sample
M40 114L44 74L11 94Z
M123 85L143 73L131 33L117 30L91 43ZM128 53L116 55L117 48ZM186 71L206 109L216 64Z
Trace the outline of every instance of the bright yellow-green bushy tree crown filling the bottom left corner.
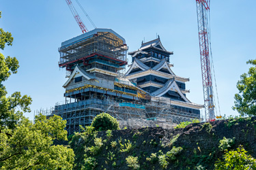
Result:
M35 116L35 124L25 119L14 131L0 133L1 169L72 169L74 152L54 146L53 140L67 140L66 120L59 116ZM11 136L5 135L11 133Z

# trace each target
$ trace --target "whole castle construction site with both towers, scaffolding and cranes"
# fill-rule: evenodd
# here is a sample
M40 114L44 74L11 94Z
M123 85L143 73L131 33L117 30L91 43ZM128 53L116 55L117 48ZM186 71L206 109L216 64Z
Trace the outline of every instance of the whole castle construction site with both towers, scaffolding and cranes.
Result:
M66 1L72 6L70 0ZM76 11L72 13L79 16ZM212 85L208 83L204 88L207 107L189 101L186 82L190 80L173 73L173 52L164 48L159 36L128 52L124 37L112 29L87 31L83 22L75 18L83 34L63 41L59 48L59 67L66 69L68 79L63 84L65 102L38 110L35 115L61 116L67 121L68 135L80 131L80 125L89 126L102 112L117 118L120 128L171 129L180 122L200 119L203 107L205 118L214 120ZM130 65L127 52L132 58Z

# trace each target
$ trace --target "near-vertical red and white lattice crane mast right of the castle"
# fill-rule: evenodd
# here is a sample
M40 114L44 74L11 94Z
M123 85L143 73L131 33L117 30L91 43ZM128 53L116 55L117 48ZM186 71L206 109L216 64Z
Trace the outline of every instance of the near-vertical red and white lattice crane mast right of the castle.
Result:
M210 0L196 0L196 2L205 119L209 121L214 121L214 94L212 90L212 73L210 67L210 52L208 39L208 12L210 10Z

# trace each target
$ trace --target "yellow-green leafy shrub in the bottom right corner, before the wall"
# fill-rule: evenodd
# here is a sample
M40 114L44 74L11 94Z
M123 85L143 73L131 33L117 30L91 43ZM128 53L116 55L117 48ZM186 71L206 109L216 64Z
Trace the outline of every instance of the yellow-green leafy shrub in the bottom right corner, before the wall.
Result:
M237 150L225 151L223 160L218 159L215 163L215 169L256 169L256 159L247 151L239 146Z

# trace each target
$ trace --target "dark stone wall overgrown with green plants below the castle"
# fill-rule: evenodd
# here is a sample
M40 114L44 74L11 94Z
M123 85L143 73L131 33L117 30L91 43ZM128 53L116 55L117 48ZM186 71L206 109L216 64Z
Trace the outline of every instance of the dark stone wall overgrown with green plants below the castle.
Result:
M87 126L72 137L70 147L76 154L74 169L240 169L256 166L255 139L253 117L169 130Z

